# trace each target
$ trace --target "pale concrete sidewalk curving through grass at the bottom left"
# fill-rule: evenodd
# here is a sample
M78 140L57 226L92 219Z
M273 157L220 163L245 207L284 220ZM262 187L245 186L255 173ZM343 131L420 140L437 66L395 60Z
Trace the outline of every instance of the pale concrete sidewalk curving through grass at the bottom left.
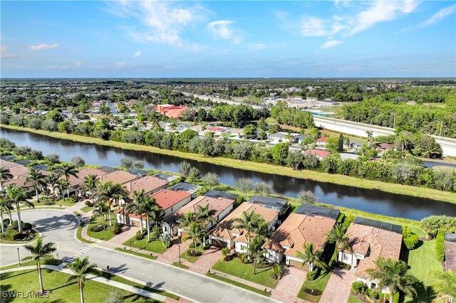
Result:
M54 265L41 265L41 269L56 270L58 272L63 272L68 275L73 275L73 272L71 270L68 270L68 269L62 268L62 267L58 267L58 266L54 266ZM9 270L1 270L0 273L3 274L4 272L19 272L21 270L36 270L36 267L34 265L32 265L32 266L26 266L26 267L11 268ZM88 275L87 277L88 277L88 280L92 280L95 282L103 283L105 285L110 285L112 287L124 289L128 292L132 292L133 294L140 294L142 297L155 299L155 300L158 300L161 302L165 302L165 300L167 299L167 297L162 296L161 294L156 294L155 292L148 292L147 290L140 289L138 287L134 287L134 286L130 286L130 285L126 285L126 284L123 284L120 282L115 282L113 280L105 279L103 277L98 277L95 275Z

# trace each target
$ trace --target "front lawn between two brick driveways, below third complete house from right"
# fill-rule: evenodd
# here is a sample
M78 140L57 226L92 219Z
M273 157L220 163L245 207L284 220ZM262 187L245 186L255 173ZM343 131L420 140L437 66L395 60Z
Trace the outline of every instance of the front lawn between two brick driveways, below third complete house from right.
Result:
M214 267L212 268L220 272L225 272L228 275L240 277L242 279L249 280L270 288L276 288L276 285L278 283L277 280L274 280L269 276L271 267L257 268L257 275L254 275L253 265L244 264L237 257L234 257L233 260L228 262L217 261L217 263L215 263Z

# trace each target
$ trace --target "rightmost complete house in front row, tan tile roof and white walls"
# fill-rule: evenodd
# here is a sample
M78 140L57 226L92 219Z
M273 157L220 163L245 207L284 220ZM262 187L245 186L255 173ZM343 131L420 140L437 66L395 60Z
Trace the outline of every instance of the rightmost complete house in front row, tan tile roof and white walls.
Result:
M378 281L371 280L367 270L375 268L378 257L398 261L402 248L402 227L390 223L358 217L348 227L347 235L353 251L338 252L338 260L356 268L356 280L371 289Z

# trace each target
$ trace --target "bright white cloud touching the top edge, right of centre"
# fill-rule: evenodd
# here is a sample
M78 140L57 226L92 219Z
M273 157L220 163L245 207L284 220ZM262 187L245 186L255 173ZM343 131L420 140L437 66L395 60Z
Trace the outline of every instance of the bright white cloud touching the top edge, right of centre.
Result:
M353 19L350 35L371 28L375 23L392 21L401 14L410 14L419 3L413 0L382 1L377 0L366 11L361 11Z

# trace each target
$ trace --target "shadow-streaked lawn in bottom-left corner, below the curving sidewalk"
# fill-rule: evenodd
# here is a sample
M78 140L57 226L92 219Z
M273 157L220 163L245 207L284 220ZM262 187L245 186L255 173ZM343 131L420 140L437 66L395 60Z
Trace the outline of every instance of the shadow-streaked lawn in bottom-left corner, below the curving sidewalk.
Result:
M36 270L24 270L20 272L6 272L1 276L2 290L9 291L32 291L38 290L38 277ZM71 282L66 284L68 275L63 272L43 270L43 285L46 290L51 291L49 299L52 302L79 302L80 292L78 284ZM122 302L151 302L150 299L141 297L138 294L127 292L100 282L88 280L84 287L86 302L105 302L110 292L117 291ZM17 298L14 302L30 302L30 298ZM43 301L44 302L44 301ZM155 301L157 302L157 301Z

